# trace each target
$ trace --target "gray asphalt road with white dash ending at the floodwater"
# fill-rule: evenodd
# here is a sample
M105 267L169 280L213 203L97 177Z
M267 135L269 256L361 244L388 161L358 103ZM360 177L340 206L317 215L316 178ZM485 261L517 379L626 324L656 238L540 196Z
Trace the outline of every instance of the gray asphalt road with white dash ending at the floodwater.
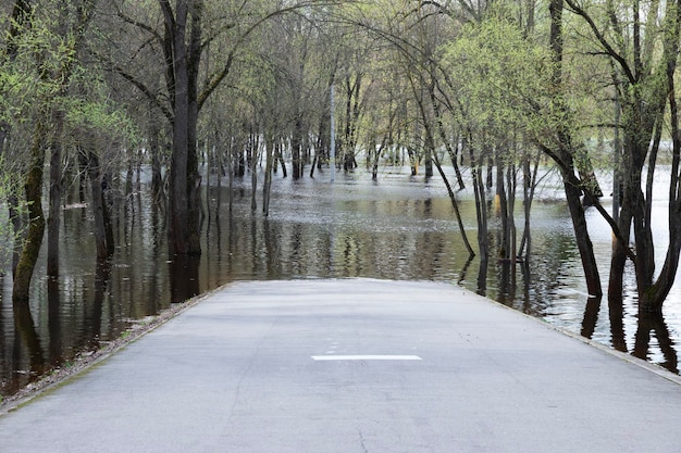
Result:
M225 287L0 416L11 452L680 452L678 376L455 286Z

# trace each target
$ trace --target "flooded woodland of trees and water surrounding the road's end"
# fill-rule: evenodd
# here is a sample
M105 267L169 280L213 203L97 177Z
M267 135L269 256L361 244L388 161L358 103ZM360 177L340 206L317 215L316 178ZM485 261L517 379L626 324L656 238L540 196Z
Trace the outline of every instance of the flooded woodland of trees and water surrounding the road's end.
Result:
M679 5L474 3L0 2L0 394L251 279L446 281L678 373Z

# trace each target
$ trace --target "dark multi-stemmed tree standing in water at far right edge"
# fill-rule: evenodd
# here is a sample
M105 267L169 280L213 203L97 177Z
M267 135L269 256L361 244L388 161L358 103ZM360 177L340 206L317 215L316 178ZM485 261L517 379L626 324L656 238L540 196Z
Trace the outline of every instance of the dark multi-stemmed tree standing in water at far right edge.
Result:
M618 124L623 136L619 222L615 223L602 210L616 232L608 294L612 301L621 300L624 263L629 257L634 264L639 310L659 312L677 274L681 251L681 141L674 84L681 9L676 1L644 4L637 0L605 3L566 0L566 4L589 29L594 53L607 59L614 68L610 88L621 118ZM664 266L655 278L651 207L666 112L672 141L669 246ZM647 167L646 179L644 167ZM630 231L633 231L634 249L629 246Z

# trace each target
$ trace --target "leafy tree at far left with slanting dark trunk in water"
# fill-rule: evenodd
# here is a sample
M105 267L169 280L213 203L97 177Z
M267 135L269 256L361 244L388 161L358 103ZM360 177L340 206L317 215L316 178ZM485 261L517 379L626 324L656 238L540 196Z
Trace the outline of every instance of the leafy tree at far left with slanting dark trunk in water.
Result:
M33 85L24 85L33 90L35 109L34 131L30 143L30 158L24 179L25 201L28 226L23 248L14 273L13 298L15 301L28 301L28 292L34 268L38 259L45 231L42 212L42 178L46 152L51 150L51 191L50 191L50 250L48 251L49 272L55 272L58 259L59 203L61 194L58 179L63 140L64 99L71 77L77 62L87 26L95 10L94 0L61 2L54 24L45 13L50 5L24 1L15 3L14 17L21 18L14 26L21 27L13 35L9 54L9 71L24 71ZM17 12L18 11L18 12ZM22 61L17 62L18 55ZM15 79L18 80L18 79ZM29 83L30 84L30 83ZM16 87L14 87L16 88Z

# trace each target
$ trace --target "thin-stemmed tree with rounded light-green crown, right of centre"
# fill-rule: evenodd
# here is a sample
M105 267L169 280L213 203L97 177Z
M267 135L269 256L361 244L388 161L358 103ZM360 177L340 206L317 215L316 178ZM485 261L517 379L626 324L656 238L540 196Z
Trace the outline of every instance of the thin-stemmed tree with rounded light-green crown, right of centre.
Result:
M537 93L548 85L542 71L546 58L546 52L527 40L513 21L491 15L483 22L466 24L457 39L446 45L439 67L433 70L437 76L432 95L437 123L448 121L462 131L462 149L471 166L483 260L487 260L490 253L487 187L483 178L483 164L487 162L488 173L496 168L495 203L502 230L498 257L516 261L519 249L513 219L517 174L519 163L529 154L519 149L529 147L528 137L541 135L540 128L544 130L545 122L538 121L533 111L542 101ZM530 205L531 193L525 190L523 194L523 202Z

